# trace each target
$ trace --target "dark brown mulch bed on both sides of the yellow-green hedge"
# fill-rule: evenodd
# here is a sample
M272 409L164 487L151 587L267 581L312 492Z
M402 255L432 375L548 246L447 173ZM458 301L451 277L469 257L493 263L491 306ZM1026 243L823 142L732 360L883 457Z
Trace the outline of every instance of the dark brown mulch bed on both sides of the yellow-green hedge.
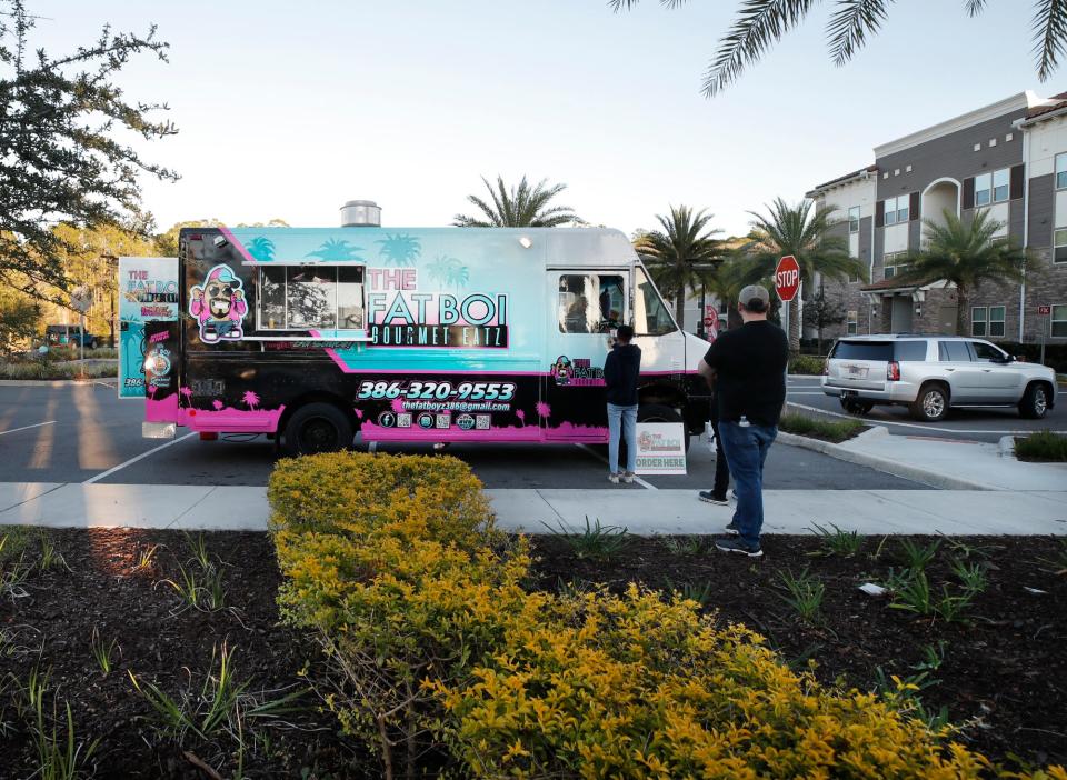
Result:
M9 530L9 529L4 529ZM0 531L2 537L3 531ZM23 533L19 531L19 533ZM179 564L195 570L189 540L168 531L131 529L51 530L49 538L66 564L34 570L17 594L0 596L0 776L24 778L37 768L33 716L19 708L30 670L49 671L46 711L53 699L63 714L69 702L79 742L100 738L89 761L101 778L208 778L238 773L232 738L187 734L182 744L154 727L153 710L137 692L129 672L171 697L199 693L205 676L218 670L223 642L233 673L258 701L303 688L300 671L317 661L316 646L278 626L279 586L273 551L260 533L203 533L210 556L221 562L225 607L189 607L166 580L181 580ZM1015 753L1035 764L1067 762L1067 576L1036 562L1061 554L1050 538L980 538L993 567L988 589L975 600L969 623L931 621L889 609L884 598L858 590L878 579L894 560L898 540L879 549L868 539L852 558L814 556L819 540L768 537L766 557L749 560L714 551L688 553L667 539L632 539L608 561L579 559L566 540L538 537L537 586L546 589L600 582L612 590L630 581L655 588L684 588L708 597L720 620L760 631L798 668L818 663L819 679L869 689L881 668L885 678L916 674L924 648L944 641L944 662L921 692L930 711L946 706L954 722L974 720L964 732L990 758ZM925 540L929 541L929 540ZM707 547L707 539L701 540ZM159 548L147 567L142 552ZM37 531L27 560L39 558ZM12 547L0 551L4 571ZM872 556L877 554L877 560ZM931 587L954 582L949 544L928 567ZM958 552L957 552L958 554ZM973 553L977 554L977 553ZM826 586L822 619L799 620L784 601L779 572L805 567ZM1034 594L1025 587L1046 591ZM117 640L114 668L101 673L90 651L93 630ZM358 743L342 739L329 712L307 693L299 711L276 720L248 720L246 777L380 777ZM250 702L249 702L250 703ZM59 730L63 737L64 729ZM188 752L188 756L186 754Z

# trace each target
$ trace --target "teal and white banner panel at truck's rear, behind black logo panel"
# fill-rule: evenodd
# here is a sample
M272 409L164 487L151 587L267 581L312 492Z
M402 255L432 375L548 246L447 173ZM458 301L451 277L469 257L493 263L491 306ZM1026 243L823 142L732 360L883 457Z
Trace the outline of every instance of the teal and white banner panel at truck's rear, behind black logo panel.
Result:
M119 258L119 398L144 398L144 323L178 319L178 259Z

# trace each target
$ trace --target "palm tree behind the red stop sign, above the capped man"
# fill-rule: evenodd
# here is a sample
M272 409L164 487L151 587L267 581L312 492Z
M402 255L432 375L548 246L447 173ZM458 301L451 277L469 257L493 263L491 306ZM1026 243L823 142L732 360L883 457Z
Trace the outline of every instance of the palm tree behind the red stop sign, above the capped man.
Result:
M781 198L766 207L767 213L752 216L754 242L747 247L749 268L746 283L756 283L775 271L785 254L791 254L800 266L800 283L809 289L819 273L826 279L847 279L864 272L864 264L849 257L848 244L830 231L839 223L834 219L835 208L812 209L809 200L789 206ZM800 351L799 300L789 301L789 349Z

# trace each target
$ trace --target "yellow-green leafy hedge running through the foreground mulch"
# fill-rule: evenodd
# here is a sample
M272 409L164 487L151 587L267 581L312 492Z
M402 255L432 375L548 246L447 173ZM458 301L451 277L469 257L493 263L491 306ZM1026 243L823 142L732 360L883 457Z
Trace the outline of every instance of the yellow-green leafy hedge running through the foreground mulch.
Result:
M692 601L525 591L526 544L493 530L457 460L282 461L269 497L283 614L318 633L331 664L312 682L387 776L435 748L492 778L995 771L949 731L791 671Z

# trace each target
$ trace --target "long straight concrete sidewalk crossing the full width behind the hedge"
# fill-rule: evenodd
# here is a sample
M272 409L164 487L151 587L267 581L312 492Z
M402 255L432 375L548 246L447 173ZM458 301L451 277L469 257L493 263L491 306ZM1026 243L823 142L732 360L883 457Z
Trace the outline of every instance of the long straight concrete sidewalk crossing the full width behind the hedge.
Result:
M860 533L1067 534L1067 490L768 490L765 533L835 523ZM530 533L599 519L631 533L716 533L731 510L692 490L486 491L503 528ZM0 524L181 530L267 528L266 488L0 483ZM544 523L544 524L542 524Z

